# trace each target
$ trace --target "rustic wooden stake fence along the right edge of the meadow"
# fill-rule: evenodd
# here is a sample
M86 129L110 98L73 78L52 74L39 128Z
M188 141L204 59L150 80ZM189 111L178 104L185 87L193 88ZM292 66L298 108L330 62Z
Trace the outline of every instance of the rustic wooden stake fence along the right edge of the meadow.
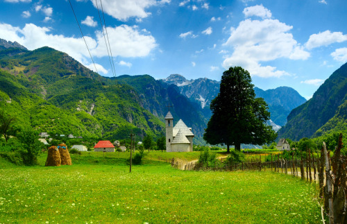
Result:
M320 155L307 149L305 157L294 156L293 152L289 160L284 159L282 155L271 154L269 162L262 162L260 155L259 159L252 158L246 162L227 164L222 163L223 158L221 158L220 163L216 162L214 166L207 168L197 161L183 163L173 158L171 166L187 171L206 168L215 171L272 171L316 182L319 183L319 196L323 198L323 207L329 216L329 223L347 223L347 157L341 156L341 149L342 134L339 135L338 146L332 157L323 142Z

